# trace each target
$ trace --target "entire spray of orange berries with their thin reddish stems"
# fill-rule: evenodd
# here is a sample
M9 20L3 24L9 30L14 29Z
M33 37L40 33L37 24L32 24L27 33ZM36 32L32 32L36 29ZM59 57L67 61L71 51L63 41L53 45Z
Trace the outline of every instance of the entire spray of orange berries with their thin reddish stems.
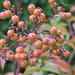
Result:
M50 3L51 8L55 8L57 6L55 0L48 0L48 2ZM3 6L9 9L11 6L10 1L5 0L3 2ZM27 65L35 66L37 58L45 51L50 51L50 54L59 56L62 56L63 54L64 57L69 57L69 51L61 47L61 44L64 42L64 36L60 30L55 27L51 27L49 31L39 29L43 22L50 20L54 15L46 20L46 16L44 13L41 13L41 9L36 8L33 4L28 6L28 11L31 13L29 20L34 23L34 28L31 31L24 29L24 21L20 21L20 17L16 15L16 13L11 12L11 10L6 10L5 12L0 13L1 19L11 17L11 22L13 23L13 26L11 26L7 31L7 35L4 35L5 39L0 39L0 56L5 54L3 57L6 60L16 60L23 68L27 67ZM62 11L63 8L59 6L56 12ZM62 19L69 19L70 17L70 13L61 13ZM40 25L37 27L39 23ZM14 26L14 24L17 25ZM19 29L22 31L20 32ZM47 36L41 37L40 34L46 34ZM6 40L12 40L15 42L8 47L6 45ZM10 50L10 48L15 44L18 46L15 48L14 52L13 50ZM25 50L25 47L28 44L30 44L29 50ZM33 46L33 49L31 46Z

